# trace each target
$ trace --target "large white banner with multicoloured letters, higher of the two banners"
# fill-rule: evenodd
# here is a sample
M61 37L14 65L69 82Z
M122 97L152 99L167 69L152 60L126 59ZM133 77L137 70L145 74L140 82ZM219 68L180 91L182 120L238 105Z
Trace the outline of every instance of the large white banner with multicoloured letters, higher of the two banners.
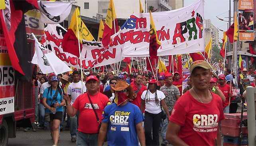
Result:
M161 47L158 56L203 52L204 0L166 12L152 13ZM111 46L124 44L122 57L149 56L150 14L134 13L120 31L113 35Z

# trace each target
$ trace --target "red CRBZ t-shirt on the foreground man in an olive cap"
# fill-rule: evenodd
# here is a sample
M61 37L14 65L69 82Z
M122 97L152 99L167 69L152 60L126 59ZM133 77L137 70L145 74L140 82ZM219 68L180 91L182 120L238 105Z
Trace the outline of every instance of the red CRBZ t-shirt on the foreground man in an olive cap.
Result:
M190 146L215 145L218 123L224 119L224 113L221 97L211 94L213 100L204 104L185 92L174 105L169 120L181 126L177 136Z

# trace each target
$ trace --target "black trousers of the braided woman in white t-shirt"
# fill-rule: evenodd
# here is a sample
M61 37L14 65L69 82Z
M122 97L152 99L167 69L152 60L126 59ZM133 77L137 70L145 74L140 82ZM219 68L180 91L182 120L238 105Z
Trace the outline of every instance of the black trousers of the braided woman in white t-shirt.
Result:
M159 146L159 128L161 124L161 112L158 114L148 113L145 111L145 138L146 146ZM151 136L153 131L153 140Z

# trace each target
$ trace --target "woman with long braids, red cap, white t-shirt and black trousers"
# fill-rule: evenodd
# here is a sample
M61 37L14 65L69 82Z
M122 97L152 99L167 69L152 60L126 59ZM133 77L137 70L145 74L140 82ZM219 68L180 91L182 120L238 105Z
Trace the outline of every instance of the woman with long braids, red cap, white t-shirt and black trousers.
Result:
M162 119L161 106L167 113L169 118L169 111L165 103L165 95L162 91L157 90L157 81L149 79L148 90L145 90L141 96L140 110L143 113L145 106L145 138L146 146L159 146L159 128ZM153 131L153 139L151 136Z

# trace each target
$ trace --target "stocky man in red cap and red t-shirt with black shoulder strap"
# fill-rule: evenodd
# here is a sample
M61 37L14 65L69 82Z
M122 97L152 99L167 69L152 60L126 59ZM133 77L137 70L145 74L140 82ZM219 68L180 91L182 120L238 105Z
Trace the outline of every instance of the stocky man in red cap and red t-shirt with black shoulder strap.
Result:
M63 99L66 100L69 116L73 117L78 111L80 112L76 144L80 146L95 146L98 145L102 112L106 105L111 103L106 95L98 92L99 81L96 76L91 75L87 77L85 86L87 93L78 96L73 105L70 104L71 99L68 95L63 95ZM88 139L88 137L90 138Z

